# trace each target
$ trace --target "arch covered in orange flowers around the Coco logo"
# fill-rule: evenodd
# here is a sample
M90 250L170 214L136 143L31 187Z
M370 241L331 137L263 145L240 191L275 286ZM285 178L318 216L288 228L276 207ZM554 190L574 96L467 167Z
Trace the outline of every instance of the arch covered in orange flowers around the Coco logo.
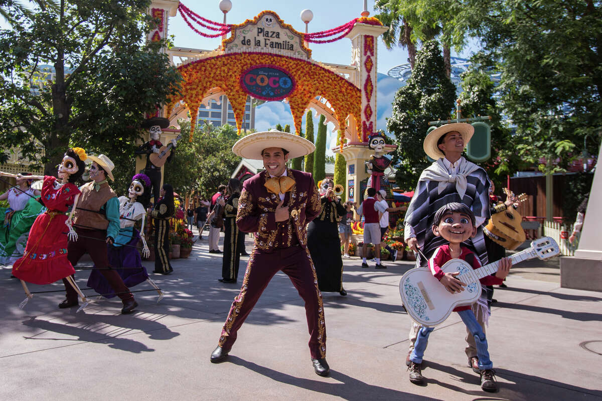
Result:
M190 110L191 133L196 125L199 106L212 88L219 87L232 104L238 134L243 124L247 92L241 88L240 77L244 71L259 65L274 65L287 71L296 85L288 94L295 130L301 131L301 121L309 102L318 95L326 98L335 110L340 130L353 116L356 127L361 127L362 95L360 89L340 75L313 62L272 53L229 53L178 67L182 74L180 95L171 99L169 109L184 100ZM358 130L359 131L359 130ZM358 134L358 139L359 134Z

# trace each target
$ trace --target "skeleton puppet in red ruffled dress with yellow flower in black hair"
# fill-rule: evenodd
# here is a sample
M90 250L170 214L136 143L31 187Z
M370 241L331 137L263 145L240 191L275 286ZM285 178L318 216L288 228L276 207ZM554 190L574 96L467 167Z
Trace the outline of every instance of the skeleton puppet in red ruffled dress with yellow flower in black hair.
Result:
M67 211L78 197L79 189L73 182L84 172L86 158L84 149L69 149L58 167L58 179L49 175L31 177L44 180L41 199L48 210L37 217L29 232L24 255L13 265L13 276L21 280L27 294L26 300L20 307L25 306L26 301L33 297L25 282L50 284L75 273L67 259L65 231L69 229L69 235L75 233L70 225ZM71 284L85 303L81 290L75 282Z

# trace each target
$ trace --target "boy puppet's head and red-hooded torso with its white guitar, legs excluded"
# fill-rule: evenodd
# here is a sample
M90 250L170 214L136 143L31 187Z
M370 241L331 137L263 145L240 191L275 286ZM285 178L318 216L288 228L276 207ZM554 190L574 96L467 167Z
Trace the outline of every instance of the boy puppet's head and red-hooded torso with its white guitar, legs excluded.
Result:
M408 315L426 327L441 324L456 307L474 304L482 295L481 284L500 284L512 264L532 258L547 259L560 253L556 242L544 237L533 241L529 249L481 267L476 255L462 246L476 234L474 215L462 204L448 204L439 209L432 230L449 241L449 245L435 250L429 268L409 270L399 283Z

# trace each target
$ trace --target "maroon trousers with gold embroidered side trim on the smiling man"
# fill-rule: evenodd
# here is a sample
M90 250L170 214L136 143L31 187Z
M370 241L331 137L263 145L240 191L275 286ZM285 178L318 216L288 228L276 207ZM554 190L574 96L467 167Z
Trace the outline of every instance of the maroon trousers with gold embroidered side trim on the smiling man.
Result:
M309 352L315 359L326 357L326 324L322 295L309 252L299 245L276 248L267 253L253 249L244 273L240 294L234 298L228 318L222 328L219 345L229 350L236 341L238 329L259 300L272 277L278 271L287 274L305 301L305 316L309 330Z

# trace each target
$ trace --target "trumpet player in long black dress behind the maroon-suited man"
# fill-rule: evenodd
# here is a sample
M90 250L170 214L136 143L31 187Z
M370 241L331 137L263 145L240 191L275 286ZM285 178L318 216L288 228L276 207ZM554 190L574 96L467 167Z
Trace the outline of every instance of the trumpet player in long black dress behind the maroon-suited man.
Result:
M347 215L347 210L341 205L334 187L330 178L318 183L321 209L318 217L308 225L307 247L314 261L320 291L347 295L343 288L343 259L338 235L338 223ZM342 186L337 190L343 194Z

